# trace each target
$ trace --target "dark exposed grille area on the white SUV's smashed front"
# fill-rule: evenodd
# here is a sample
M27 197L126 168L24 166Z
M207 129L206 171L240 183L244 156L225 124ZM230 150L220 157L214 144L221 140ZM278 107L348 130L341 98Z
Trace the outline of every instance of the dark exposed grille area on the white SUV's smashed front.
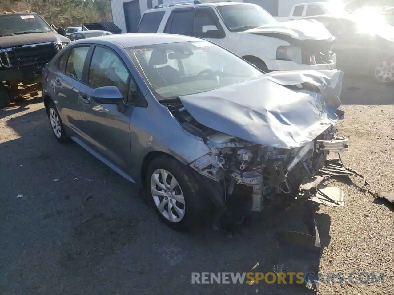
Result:
M331 45L326 40L305 40L301 43L300 47L302 63L304 65L313 64L310 59L311 55L314 55L316 64L327 63L327 57L331 51Z

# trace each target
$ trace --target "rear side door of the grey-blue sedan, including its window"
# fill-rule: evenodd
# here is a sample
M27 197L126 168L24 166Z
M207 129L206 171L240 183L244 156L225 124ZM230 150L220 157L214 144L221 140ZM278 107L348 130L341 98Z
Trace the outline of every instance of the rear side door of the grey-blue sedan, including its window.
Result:
M58 60L58 73L53 87L59 100L58 110L63 124L78 133L80 127L80 105L78 93L82 85L82 70L89 46L78 46L67 50Z

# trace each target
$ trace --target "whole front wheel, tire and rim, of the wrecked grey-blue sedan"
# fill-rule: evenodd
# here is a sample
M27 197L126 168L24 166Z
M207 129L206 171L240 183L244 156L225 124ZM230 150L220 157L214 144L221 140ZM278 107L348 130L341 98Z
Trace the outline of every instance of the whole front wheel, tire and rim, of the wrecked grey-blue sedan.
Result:
M145 189L156 214L171 229L190 230L198 224L203 200L188 166L169 156L153 159Z

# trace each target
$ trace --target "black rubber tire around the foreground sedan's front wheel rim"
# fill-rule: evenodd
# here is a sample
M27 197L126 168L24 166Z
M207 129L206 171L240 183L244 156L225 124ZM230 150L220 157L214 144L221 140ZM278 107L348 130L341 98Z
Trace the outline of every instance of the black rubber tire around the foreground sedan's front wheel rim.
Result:
M162 214L162 212L160 212L158 206L154 201L154 197L151 192L151 177L152 174L159 169L164 169L171 174L169 175L169 177L167 177L167 184L169 183L169 181L171 181L171 176L175 177L179 184L180 191L183 193L184 216L178 222L173 222L167 219ZM171 229L177 231L188 231L194 229L199 224L204 209L204 199L202 197L201 191L198 188L197 182L191 172L192 171L190 171L190 168L188 166L185 166L177 159L170 156L160 156L150 162L147 169L147 174L145 175L145 194L147 200L149 201L149 204L154 208L160 220L162 220ZM156 186L156 188L158 188L158 186ZM181 205L181 203L178 203L178 206L181 207ZM175 212L174 210L171 210L171 212Z

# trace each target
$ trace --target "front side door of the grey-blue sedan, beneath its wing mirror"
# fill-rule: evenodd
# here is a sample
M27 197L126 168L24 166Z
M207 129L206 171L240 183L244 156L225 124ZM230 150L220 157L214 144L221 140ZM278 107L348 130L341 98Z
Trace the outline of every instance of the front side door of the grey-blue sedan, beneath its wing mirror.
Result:
M110 160L118 168L128 171L131 161L130 118L134 107L127 105L129 92L135 83L121 58L112 49L96 46L87 73L87 84L80 88L81 125L84 142ZM117 105L96 103L92 92L97 87L118 87L126 102L125 112Z

